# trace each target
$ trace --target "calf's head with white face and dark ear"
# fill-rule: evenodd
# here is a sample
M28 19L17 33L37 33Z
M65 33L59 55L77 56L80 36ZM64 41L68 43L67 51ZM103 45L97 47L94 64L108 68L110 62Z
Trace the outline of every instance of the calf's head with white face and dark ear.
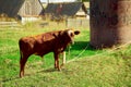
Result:
M66 29L62 33L62 36L64 37L64 41L69 44L74 44L74 36L80 34L80 30L73 30L73 29Z

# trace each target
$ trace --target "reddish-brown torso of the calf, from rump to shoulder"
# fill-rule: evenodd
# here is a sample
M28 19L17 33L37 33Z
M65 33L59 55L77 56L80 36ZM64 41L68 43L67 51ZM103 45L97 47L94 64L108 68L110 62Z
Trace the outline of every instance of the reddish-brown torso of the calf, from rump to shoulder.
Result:
M20 50L29 54L44 54L55 51L59 38L59 32L50 32L36 36L24 37L20 39Z

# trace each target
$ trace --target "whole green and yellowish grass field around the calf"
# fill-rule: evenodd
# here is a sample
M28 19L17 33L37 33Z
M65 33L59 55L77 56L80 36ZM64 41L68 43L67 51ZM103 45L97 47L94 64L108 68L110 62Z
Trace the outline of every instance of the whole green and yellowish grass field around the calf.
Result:
M52 53L40 59L29 57L25 77L19 78L21 37L64 29L63 24L39 27L28 23L22 27L0 28L0 86L2 87L130 87L131 47L95 50L88 46L88 27L76 27L81 35L67 49L67 63L61 72L53 70ZM87 47L87 49L85 49ZM110 51L112 50L112 51Z

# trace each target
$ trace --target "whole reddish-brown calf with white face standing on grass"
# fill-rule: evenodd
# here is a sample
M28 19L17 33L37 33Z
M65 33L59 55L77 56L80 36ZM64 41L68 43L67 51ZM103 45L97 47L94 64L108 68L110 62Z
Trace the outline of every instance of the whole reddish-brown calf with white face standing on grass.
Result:
M55 69L60 71L59 54L64 51L69 44L73 42L74 35L79 34L79 30L66 29L21 38L19 40L21 53L20 77L24 76L25 63L32 54L44 57L44 54L53 52Z

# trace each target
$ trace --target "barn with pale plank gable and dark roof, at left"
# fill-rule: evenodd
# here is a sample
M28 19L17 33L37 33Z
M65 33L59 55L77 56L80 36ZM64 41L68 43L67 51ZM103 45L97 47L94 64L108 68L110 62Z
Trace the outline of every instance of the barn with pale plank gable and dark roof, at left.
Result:
M36 20L44 15L39 0L0 0L0 14L19 20Z

